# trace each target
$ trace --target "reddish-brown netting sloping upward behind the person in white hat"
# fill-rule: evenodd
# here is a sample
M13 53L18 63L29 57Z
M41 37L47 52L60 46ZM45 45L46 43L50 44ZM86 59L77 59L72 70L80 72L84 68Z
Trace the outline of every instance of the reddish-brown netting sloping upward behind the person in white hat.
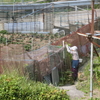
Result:
M90 33L91 32L91 23L88 25L83 26L82 28L78 29L77 31L82 33ZM90 51L90 42L85 37L79 36L76 32L73 32L72 34L69 34L63 38L61 38L56 43L52 43L52 45L61 45L62 41L65 41L65 44L71 44L71 46L77 46L79 55L82 57L82 55L87 55L87 53Z

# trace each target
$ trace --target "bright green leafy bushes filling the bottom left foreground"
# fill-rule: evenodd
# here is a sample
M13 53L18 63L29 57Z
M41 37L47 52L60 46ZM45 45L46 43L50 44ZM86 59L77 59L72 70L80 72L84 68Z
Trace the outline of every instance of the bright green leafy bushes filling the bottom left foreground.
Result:
M0 100L69 100L65 90L27 81L15 73L0 76Z

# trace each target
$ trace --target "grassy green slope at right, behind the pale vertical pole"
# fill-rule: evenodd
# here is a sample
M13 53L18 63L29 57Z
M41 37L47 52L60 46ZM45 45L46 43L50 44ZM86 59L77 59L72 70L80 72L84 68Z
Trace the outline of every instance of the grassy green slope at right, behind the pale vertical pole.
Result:
M90 62L85 66L83 70L83 80L78 80L77 89L83 91L86 93L86 96L89 96L90 91ZM100 91L100 57L94 57L93 58L93 97L97 96L95 94L96 91ZM100 92L99 92L100 93ZM98 99L99 98L99 99ZM97 96L97 98L89 99L89 100L100 100L100 96Z

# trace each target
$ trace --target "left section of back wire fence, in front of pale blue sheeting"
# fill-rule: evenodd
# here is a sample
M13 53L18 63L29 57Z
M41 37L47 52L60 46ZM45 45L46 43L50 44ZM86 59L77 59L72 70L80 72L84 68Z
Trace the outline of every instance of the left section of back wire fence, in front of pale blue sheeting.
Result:
M4 5L5 6L5 5ZM17 6L17 5L16 5ZM12 5L0 11L1 25L4 30L10 33L36 33L36 32L51 32L52 30L52 5L45 4L38 6L38 9L33 5L33 9L28 9L27 6ZM2 30L2 29L1 29Z

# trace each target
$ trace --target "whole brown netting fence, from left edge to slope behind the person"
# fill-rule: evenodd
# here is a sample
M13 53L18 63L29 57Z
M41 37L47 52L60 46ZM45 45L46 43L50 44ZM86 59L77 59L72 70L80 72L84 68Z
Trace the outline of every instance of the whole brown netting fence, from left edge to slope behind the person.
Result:
M78 29L77 31L82 33L89 33L91 31L91 23L83 26L82 28ZM64 40L65 43L70 43L72 46L76 45L79 50L80 57L83 55L87 55L90 51L90 42L85 38L78 36L77 32L73 32L59 41L52 43L52 45L47 45L42 47L41 49L26 52L23 49L22 44L9 45L3 46L1 45L1 65L4 70L8 70L17 68L18 72L24 75L28 75L29 78L43 81L43 78L46 77L49 81L51 81L50 75L52 74L52 80L56 79L55 77L60 71L67 71L70 69L71 66L71 59L68 56L66 49L62 48L62 41ZM19 49L20 47L20 49ZM11 50L11 48L17 48L18 51ZM64 55L65 58L64 58ZM57 68L58 72L53 71ZM25 71L25 69L27 69ZM59 71L60 70L60 71ZM47 75L49 77L47 77ZM55 81L55 80L54 80ZM58 81L58 80L56 80ZM54 82L55 84L55 82ZM57 83L56 83L57 84Z

